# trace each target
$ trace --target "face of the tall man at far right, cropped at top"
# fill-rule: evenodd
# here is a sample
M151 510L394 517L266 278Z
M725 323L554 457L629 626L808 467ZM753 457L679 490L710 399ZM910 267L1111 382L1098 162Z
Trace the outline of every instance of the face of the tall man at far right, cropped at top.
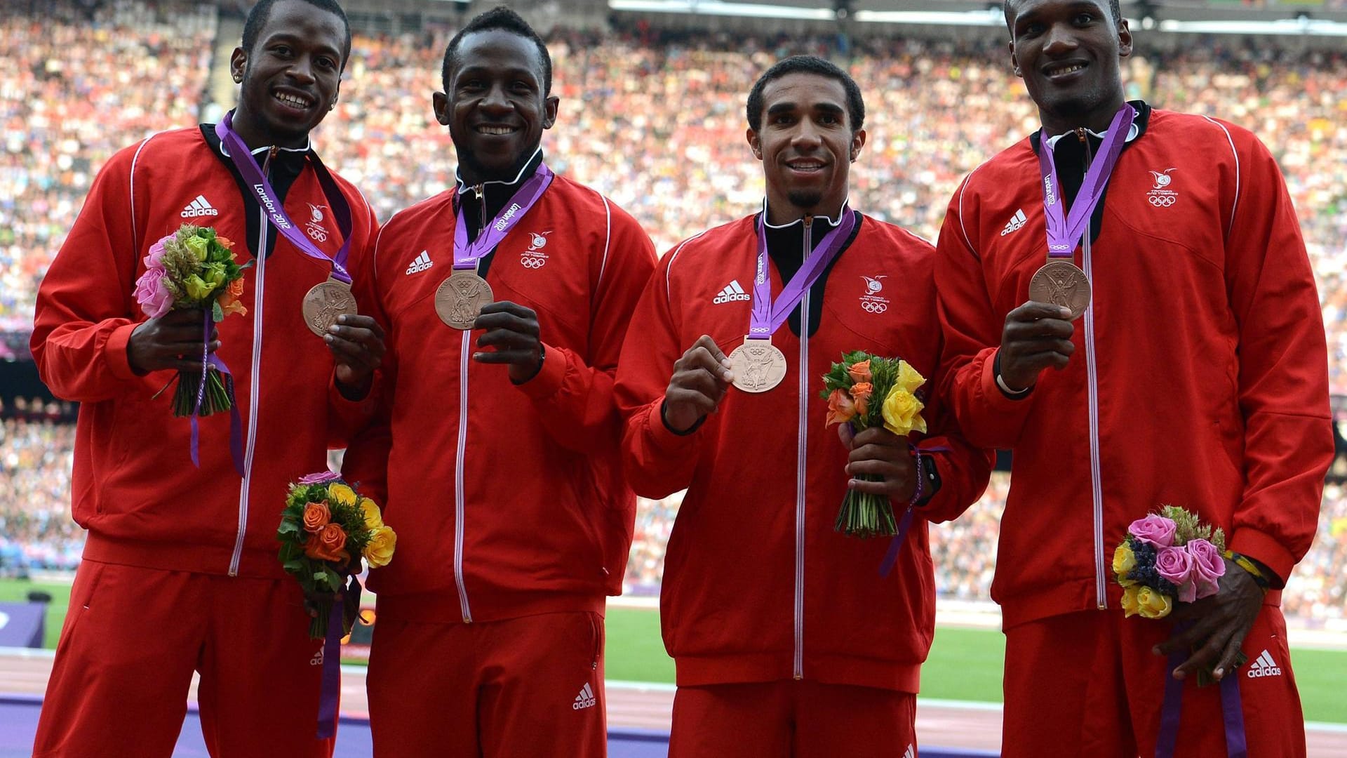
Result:
M1119 59L1131 54L1127 22L1094 0L1018 0L1006 11L1010 61L1049 134L1102 131L1122 108Z

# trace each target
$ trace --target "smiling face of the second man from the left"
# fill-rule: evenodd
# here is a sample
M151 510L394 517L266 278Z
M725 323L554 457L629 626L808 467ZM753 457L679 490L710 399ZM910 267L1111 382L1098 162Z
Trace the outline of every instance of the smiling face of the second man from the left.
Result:
M454 53L435 119L449 127L467 183L515 178L556 123L533 40L505 30L465 36Z

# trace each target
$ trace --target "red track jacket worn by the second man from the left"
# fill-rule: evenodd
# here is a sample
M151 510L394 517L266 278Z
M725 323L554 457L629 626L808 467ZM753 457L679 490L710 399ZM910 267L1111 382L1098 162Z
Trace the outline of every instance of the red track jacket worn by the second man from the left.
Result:
M343 469L387 491L397 530L397 557L370 587L381 615L412 620L602 612L603 595L621 592L636 518L613 371L653 245L607 198L552 181L486 270L494 298L533 309L541 328L541 371L515 386L504 366L470 359L482 332L435 314L454 264L455 192L393 216L357 274L389 353L381 418Z

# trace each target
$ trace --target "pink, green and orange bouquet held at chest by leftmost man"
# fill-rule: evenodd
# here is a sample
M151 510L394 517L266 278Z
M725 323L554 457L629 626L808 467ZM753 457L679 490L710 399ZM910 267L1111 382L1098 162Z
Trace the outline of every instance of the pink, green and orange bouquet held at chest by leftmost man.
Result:
M224 321L230 313L248 313L238 298L244 294L244 268L252 266L252 262L240 266L232 248L233 243L218 236L213 228L194 224L183 224L176 232L150 245L145 272L136 279L135 294L140 309L151 318L159 318L170 310L202 309L207 313L202 336L203 341L209 341L210 328L216 321ZM193 415L193 411L210 415L233 407L233 380L228 374L221 376L221 371L206 359L205 352L202 371L179 371L176 382L174 415Z

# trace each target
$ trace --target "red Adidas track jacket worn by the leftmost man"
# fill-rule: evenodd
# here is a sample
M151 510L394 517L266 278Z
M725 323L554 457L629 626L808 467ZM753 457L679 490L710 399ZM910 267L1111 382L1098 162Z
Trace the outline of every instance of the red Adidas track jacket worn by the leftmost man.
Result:
M303 322L304 293L331 267L265 224L218 150L210 128L187 128L112 156L38 290L32 355L53 394L81 403L71 496L75 521L89 530L86 558L283 577L276 526L287 483L325 469L329 442L341 444L362 425L373 403L341 398L331 386L331 353ZM325 236L315 244L334 254L341 239L322 212L327 201L310 155L283 151L268 166L286 210ZM337 181L352 205L358 250L377 221L360 192ZM127 363L131 332L145 320L132 295L143 258L185 223L234 240L240 262L272 251L244 272L248 314L218 325L218 355L233 374L242 415L242 479L229 455L229 414L201 419L198 469L189 457L189 421L174 418L168 392L152 398L174 372L137 376Z

